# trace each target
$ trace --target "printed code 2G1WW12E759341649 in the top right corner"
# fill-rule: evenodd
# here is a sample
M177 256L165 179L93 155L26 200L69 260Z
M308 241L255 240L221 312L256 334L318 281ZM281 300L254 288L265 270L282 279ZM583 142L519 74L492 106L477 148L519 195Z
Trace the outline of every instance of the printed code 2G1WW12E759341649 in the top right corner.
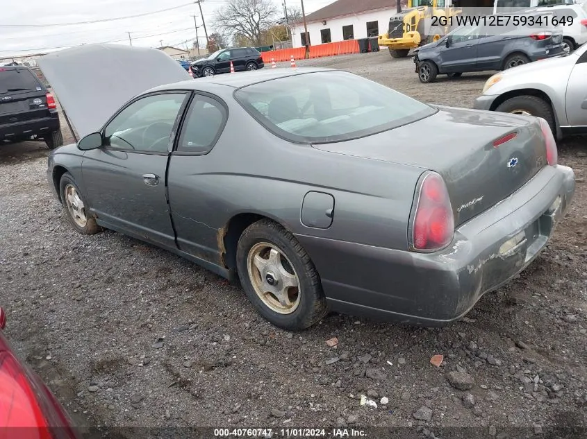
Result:
M530 26L556 27L571 26L572 15L556 17L555 15L452 15L430 17L430 26Z

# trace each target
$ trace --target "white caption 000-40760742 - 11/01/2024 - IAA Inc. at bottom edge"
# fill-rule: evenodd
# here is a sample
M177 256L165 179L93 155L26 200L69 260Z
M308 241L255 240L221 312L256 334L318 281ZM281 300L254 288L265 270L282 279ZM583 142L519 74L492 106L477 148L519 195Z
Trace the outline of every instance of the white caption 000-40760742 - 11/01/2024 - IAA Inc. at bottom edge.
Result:
M361 438L363 430L356 429L214 429L215 438Z

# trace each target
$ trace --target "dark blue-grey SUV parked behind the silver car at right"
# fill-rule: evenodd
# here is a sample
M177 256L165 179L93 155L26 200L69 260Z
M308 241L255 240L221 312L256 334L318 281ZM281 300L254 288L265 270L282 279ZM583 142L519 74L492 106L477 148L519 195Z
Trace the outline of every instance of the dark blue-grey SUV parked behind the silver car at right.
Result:
M438 74L511 69L528 62L565 54L563 33L543 28L520 29L509 24L499 35L488 26L463 26L414 52L421 83L433 83Z

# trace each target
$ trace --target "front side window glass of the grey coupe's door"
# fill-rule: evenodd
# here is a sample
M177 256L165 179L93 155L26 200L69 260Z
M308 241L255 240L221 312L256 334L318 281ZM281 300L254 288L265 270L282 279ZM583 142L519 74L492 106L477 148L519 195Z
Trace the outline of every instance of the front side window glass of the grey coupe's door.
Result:
M184 93L156 94L131 103L108 123L106 144L113 149L167 153Z

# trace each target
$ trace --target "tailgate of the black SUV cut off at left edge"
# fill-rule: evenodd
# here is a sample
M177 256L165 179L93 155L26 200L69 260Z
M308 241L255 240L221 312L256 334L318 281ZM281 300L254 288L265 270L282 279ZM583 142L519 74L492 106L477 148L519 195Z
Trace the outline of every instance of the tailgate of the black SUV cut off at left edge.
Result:
M24 67L0 67L0 125L47 116L47 91L35 74Z

